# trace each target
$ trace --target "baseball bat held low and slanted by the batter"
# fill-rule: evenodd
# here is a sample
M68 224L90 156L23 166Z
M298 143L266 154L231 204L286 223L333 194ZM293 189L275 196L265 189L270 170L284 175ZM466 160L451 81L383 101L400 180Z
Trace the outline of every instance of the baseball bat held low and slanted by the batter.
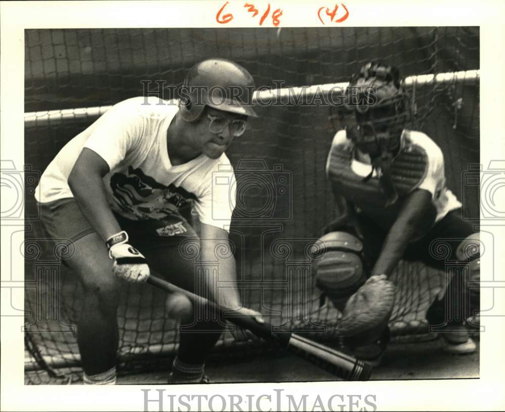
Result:
M370 375L372 373L372 367L370 364L356 359L353 356L333 348L329 348L292 332L274 332L272 325L266 322L260 324L252 316L237 317L236 315L226 315L226 312L231 312L227 308L175 286L156 276L149 276L147 283L165 290L166 292L182 293L189 297L189 299L194 303L198 301L205 301L211 305L213 310L218 311L222 319L232 322L241 328L248 329L261 338L276 342L282 348L295 353L302 359L307 360L311 364L318 366L334 376L347 381L368 381L370 379Z

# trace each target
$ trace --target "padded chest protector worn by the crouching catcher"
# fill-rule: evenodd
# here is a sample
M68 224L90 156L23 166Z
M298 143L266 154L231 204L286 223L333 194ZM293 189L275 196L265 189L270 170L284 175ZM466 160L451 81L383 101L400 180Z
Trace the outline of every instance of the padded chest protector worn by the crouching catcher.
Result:
M364 182L363 176L352 171L355 146L351 140L332 146L328 156L328 178L333 192L354 203L362 213L384 229L391 227L405 197L419 187L428 172L426 150L412 143L407 133L405 138L404 146L391 162L391 180L398 193L398 200L387 208L387 198L378 177L373 176Z

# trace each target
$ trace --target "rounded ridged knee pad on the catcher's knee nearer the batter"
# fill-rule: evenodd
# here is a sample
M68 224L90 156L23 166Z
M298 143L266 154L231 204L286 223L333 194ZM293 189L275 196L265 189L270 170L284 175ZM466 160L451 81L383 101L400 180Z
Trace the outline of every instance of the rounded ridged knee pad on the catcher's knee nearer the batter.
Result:
M316 242L316 286L333 301L347 299L366 281L363 244L347 232L330 232Z

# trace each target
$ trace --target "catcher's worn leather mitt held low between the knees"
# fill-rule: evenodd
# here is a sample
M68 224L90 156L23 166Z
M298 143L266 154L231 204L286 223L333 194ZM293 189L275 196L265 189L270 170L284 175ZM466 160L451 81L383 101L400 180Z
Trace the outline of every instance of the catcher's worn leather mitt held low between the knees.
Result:
M394 294L386 275L374 275L349 298L338 323L346 344L365 345L379 338L391 316Z

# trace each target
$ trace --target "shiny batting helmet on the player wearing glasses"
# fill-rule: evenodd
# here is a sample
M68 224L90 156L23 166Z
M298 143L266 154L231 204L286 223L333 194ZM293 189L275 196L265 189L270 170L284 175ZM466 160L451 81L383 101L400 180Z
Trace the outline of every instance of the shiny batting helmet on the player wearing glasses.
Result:
M205 106L244 116L258 117L252 110L255 82L242 66L226 59L196 63L186 76L179 107L187 122L203 114Z

